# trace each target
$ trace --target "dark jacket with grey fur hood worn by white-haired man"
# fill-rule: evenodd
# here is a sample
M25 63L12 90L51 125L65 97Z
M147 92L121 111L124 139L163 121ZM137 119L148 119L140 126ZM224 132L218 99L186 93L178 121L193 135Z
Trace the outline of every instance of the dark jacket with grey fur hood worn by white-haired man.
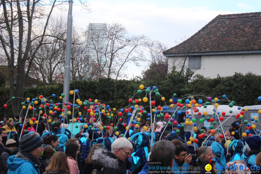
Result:
M111 152L101 149L94 151L92 165L97 169L96 174L124 174L121 170L122 162Z

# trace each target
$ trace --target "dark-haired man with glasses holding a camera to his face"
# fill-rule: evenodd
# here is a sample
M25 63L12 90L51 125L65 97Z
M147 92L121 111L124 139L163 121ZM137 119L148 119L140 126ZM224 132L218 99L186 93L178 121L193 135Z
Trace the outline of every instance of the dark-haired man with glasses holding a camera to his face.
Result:
M189 164L191 163L192 157L190 154L187 154L186 148L184 146L176 147L174 159L174 173L189 173ZM177 170L179 170L180 172L177 172Z

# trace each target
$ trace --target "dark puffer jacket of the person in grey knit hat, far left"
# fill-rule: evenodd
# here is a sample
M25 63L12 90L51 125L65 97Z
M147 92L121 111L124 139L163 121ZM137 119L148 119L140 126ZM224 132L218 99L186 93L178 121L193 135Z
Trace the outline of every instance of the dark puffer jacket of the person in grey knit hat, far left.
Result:
M19 147L15 147L13 150L4 147L4 151L1 154L0 157L0 171L1 174L2 173L6 173L5 171L7 171L7 158L10 157L11 155L15 155L19 152L20 148Z

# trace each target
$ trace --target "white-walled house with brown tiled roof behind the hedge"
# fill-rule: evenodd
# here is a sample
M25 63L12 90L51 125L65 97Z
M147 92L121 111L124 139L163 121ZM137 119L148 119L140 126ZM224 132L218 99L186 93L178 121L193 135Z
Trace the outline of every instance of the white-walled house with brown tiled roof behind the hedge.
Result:
M218 15L163 55L169 58L169 72L186 67L210 78L261 75L261 12Z

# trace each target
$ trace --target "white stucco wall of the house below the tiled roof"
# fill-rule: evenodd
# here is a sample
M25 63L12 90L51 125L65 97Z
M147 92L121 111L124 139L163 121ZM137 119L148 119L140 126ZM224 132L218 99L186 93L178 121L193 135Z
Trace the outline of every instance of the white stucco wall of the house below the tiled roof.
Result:
M175 64L179 71L181 57L169 57L169 72ZM188 66L188 59L185 62ZM238 54L238 55L207 55L201 57L201 68L195 70L195 74L201 74L204 77L215 78L217 74L220 76L232 76L235 72L246 74L252 72L261 75L261 54Z

